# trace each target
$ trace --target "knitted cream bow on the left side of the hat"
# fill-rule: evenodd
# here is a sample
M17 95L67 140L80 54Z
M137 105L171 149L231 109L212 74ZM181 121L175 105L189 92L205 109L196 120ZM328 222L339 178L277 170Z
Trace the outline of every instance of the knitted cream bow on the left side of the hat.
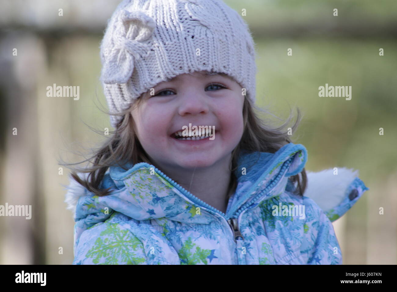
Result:
M104 50L101 75L104 83L127 83L134 70L134 60L150 52L151 44L143 42L152 36L155 27L152 17L141 11L120 11L112 38L114 46Z

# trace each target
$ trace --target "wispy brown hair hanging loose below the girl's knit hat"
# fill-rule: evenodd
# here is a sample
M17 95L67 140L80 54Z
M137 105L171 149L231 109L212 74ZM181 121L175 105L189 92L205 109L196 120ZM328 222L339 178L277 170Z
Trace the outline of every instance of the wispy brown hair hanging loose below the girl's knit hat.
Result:
M222 75L222 74L221 74ZM116 127L116 130L110 131L112 135L110 139L103 143L102 147L97 151L94 151L94 155L85 161L67 164L63 163L67 168L71 169L71 176L74 180L79 182L82 186L87 188L90 192L98 196L106 196L110 194L110 188L100 189L100 183L104 177L104 174L109 166L123 166L123 162L146 162L148 164L153 164L148 158L147 153L143 149L141 143L139 142L137 135L135 134L135 123L131 115L131 110L138 106L142 101L141 98L137 99L131 107L123 112L114 115L123 116L122 120ZM237 178L234 175L234 171L237 169L237 159L241 150L248 152L260 151L275 153L283 145L290 143L289 135L287 131L282 131L291 120L291 115L288 120L278 128L268 128L264 125L264 120L259 118L254 112L254 109L261 111L260 108L251 104L248 96L245 97L243 105L243 121L244 121L244 131L239 144L232 151L232 159L229 166L231 170L231 180L228 188L227 199L231 194L235 192L237 187ZM298 115L297 120L291 127L292 131L295 131L300 122L300 112L297 109ZM112 114L107 112L108 114ZM100 133L100 132L97 132ZM102 134L102 133L101 133ZM94 159L92 162L91 159ZM69 165L81 164L83 162L89 161L93 164L91 167L85 168L73 168ZM124 168L125 169L125 168ZM125 169L127 170L127 169ZM77 172L89 173L87 180L81 179ZM297 184L295 186L295 194L303 196L304 190L306 189L307 177L305 169L301 173L291 176L291 182Z

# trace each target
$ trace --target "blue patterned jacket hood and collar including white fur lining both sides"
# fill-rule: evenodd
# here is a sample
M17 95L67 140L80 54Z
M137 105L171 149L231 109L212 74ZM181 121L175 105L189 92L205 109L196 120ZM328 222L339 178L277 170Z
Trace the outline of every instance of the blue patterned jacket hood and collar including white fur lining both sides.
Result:
M229 199L226 213L213 208L182 188L155 166L141 162L125 164L125 169L111 166L102 180L102 188L112 188L108 196L98 197L73 179L66 194L67 209L74 213L75 236L85 229L108 219L117 211L135 220L166 217L186 223L209 224L216 220L209 210L226 219L236 218L242 210L284 191L293 191L288 179L298 174L307 161L303 145L289 143L276 153L242 152L238 159L237 189ZM368 190L357 172L339 169L308 173L304 196L313 199L333 221L342 216ZM86 178L87 174L81 174ZM198 212L198 213L197 213ZM195 216L200 214L200 216ZM76 240L76 238L75 238Z

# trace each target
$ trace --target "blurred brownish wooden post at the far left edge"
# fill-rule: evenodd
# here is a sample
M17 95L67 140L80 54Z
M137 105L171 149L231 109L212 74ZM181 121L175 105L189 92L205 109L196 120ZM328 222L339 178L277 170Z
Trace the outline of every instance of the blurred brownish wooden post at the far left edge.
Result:
M6 90L8 123L0 205L31 205L31 219L0 217L2 264L44 263L44 203L37 171L37 76L44 57L40 40L31 34L6 35L1 43L2 86ZM13 48L17 55L13 56ZM5 66L4 66L5 65ZM17 135L13 135L17 128Z

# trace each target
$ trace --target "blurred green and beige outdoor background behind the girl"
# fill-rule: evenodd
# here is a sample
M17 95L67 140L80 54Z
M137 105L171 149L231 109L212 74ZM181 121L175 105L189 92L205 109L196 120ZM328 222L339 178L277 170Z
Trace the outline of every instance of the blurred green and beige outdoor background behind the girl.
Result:
M333 223L343 263L396 264L397 2L225 2L240 14L246 10L243 18L256 43L256 104L282 120L291 108L303 112L293 141L308 150L306 170L358 169L370 188ZM105 139L84 123L110 128L109 117L97 108L106 108L99 45L118 3L0 1L0 205L34 210L31 220L0 217L1 264L73 261L74 222L62 187L68 170L60 170L57 159L81 161L71 151L98 147ZM46 97L53 83L80 86L80 99ZM326 83L351 86L352 99L319 97L318 87Z

